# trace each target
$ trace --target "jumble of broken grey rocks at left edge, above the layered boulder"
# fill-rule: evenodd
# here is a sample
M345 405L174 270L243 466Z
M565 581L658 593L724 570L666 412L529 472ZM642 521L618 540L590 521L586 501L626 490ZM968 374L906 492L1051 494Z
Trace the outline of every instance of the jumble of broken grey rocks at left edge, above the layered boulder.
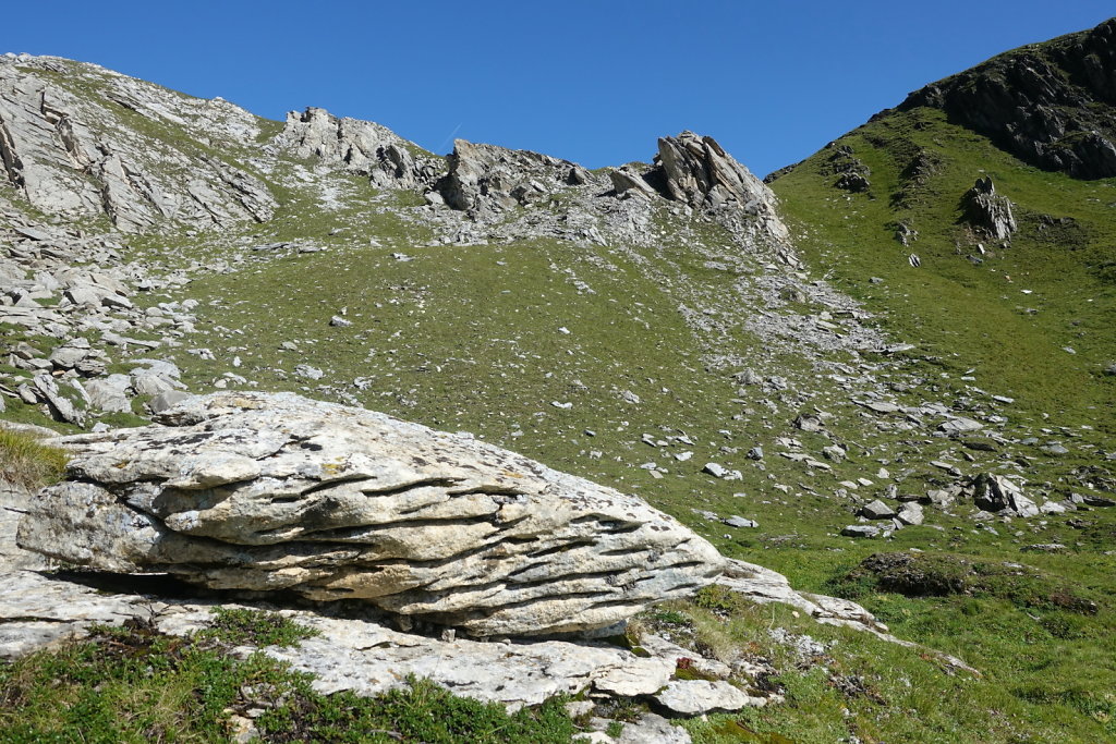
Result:
M0 322L56 340L7 350L3 361L16 371L0 376L0 400L7 395L42 404L56 421L85 424L86 410L127 413L133 397L182 388L177 368L164 361L132 359L128 374L107 375L107 367L114 356L124 360L119 352L179 344L193 330L195 302L140 310L129 299L137 286L169 282L123 263L119 244L10 220L12 226L0 231Z

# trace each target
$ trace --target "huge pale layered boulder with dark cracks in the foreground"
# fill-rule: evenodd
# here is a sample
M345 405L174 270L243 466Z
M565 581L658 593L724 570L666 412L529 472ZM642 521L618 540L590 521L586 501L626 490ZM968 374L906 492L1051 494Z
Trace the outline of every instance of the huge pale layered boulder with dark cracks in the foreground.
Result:
M607 627L724 564L641 500L470 435L292 394L192 397L156 421L61 439L68 480L20 545L480 636Z

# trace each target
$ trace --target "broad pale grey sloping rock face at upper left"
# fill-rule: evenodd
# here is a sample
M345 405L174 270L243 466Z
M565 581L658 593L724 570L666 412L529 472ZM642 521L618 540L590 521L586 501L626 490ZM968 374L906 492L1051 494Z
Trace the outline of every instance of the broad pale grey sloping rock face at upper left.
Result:
M52 74L75 84L93 81L104 96L78 96ZM0 177L36 209L64 216L105 214L118 229L145 232L167 221L193 226L263 222L277 202L247 172L204 154L200 145L143 134L131 117L147 119L143 131L160 132L210 102L186 99L150 84L49 57L0 58ZM213 127L233 127L230 104ZM193 123L191 123L193 124ZM251 124L254 127L254 124ZM192 131L204 138L206 127ZM248 132L244 132L248 129Z

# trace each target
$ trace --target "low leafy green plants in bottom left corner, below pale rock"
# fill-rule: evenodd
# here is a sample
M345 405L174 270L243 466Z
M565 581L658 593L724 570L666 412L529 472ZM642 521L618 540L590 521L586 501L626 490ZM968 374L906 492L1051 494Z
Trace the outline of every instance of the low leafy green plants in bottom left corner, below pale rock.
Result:
M0 740L229 741L238 731L233 715L250 711L259 712L253 723L264 742L535 744L569 742L575 733L562 697L509 715L501 705L455 697L413 677L405 687L373 698L321 695L309 675L262 654L227 656L230 626L240 632L244 621L258 627L261 618L218 613L219 641L209 632L171 637L131 620L121 628L96 628L85 640L0 661ZM287 629L280 635L294 639L300 634Z

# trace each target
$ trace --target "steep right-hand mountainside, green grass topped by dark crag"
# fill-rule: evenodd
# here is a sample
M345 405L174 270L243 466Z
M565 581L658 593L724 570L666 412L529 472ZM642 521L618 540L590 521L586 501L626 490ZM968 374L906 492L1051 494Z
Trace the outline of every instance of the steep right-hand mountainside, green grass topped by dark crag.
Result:
M1023 47L931 85L767 180L804 261L863 301L882 329L916 345L924 385L959 402L985 390L1006 396L999 415L1033 432L1016 441L1008 466L1070 491L1075 473L1114 471L1116 180L1105 154L1116 126L1113 29L1107 21ZM1054 570L1110 595L1110 523L1094 513L1065 525L1051 532L1068 545ZM1016 551L995 548L1036 564L1033 553ZM867 606L894 599L885 592ZM985 641L975 632L970 642ZM1033 642L1051 658L1080 649L1064 636ZM1010 661L1008 647L998 653L1013 695L1074 699L1110 721L1097 707L1099 689L1068 676L1043 673L1041 693L1008 684L1027 665Z

